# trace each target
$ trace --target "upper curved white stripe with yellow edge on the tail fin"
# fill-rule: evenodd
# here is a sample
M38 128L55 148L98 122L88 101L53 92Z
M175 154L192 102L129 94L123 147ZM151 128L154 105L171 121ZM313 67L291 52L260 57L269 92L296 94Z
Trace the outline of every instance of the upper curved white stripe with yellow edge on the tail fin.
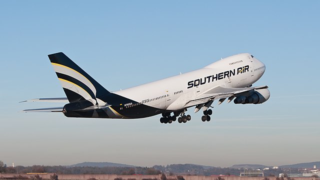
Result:
M61 64L57 64L57 63L53 63L53 62L51 62L51 64L52 64L55 72L59 72L59 73L71 76L71 77L81 81L82 83L84 83L86 86L88 86L92 90L92 92L95 96L96 90L95 90L95 87L93 86L93 84L86 77L84 77L82 74L80 74L78 71L76 71L70 67L61 65ZM90 98L91 98L91 96L90 96Z

